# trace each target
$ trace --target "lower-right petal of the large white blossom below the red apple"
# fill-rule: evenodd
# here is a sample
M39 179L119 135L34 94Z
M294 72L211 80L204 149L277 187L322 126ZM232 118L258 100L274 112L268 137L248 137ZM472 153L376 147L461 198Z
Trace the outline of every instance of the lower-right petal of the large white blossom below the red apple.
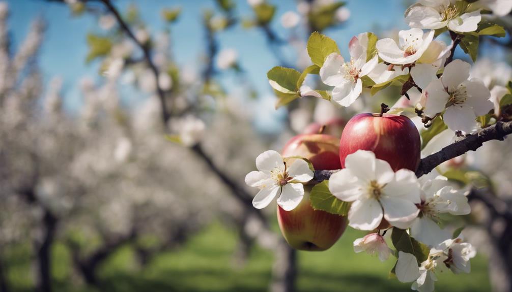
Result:
M400 197L381 197L380 204L384 209L384 218L393 226L395 222L410 224L419 213L413 202Z

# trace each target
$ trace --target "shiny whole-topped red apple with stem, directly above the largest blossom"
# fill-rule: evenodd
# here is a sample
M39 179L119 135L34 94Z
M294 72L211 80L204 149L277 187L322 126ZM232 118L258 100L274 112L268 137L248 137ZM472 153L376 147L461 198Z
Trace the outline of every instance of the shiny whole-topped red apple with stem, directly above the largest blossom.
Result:
M345 167L347 155L369 150L386 160L396 172L407 168L416 171L420 160L420 136L406 116L361 113L352 117L339 140L339 160Z

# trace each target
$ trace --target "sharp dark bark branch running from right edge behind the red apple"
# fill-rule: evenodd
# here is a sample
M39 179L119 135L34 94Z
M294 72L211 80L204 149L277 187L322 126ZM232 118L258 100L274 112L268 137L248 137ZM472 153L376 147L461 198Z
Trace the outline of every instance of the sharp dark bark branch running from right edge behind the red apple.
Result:
M512 121L498 121L492 126L481 129L475 134L467 135L462 140L447 145L440 151L421 159L418 169L416 169L416 176L419 178L422 175L426 175L444 161L448 161L468 151L476 151L484 142L503 140L509 134L512 134ZM327 180L337 171L315 171L313 180L317 182Z

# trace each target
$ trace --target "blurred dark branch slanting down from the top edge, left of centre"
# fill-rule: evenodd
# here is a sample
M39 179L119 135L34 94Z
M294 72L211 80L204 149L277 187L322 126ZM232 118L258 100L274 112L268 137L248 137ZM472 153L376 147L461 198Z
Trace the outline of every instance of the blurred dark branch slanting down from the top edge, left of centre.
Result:
M165 93L163 92L162 88L160 87L160 84L158 82L158 68L153 62L153 59L151 57L151 51L150 47L147 44L141 43L133 34L130 27L127 25L127 23L123 20L121 15L119 14L119 11L112 5L110 0L100 0L106 8L114 15L114 17L117 19L117 22L119 23L119 26L121 29L126 33L127 36L129 36L138 47L141 48L142 53L144 54L144 58L146 59L147 65L151 68L151 71L153 72L153 75L155 75L155 82L156 82L156 88L158 93L158 98L160 100L161 108L162 108L162 119L164 120L164 123L166 124L167 121L170 118L169 110L167 108L167 102L165 100Z

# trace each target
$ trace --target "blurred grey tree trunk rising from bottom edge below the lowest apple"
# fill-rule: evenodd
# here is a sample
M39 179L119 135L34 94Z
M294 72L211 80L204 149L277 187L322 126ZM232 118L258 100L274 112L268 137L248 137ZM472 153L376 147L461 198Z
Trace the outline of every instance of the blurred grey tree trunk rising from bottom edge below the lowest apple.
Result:
M275 249L270 291L291 292L295 290L296 262L297 252L281 239Z

